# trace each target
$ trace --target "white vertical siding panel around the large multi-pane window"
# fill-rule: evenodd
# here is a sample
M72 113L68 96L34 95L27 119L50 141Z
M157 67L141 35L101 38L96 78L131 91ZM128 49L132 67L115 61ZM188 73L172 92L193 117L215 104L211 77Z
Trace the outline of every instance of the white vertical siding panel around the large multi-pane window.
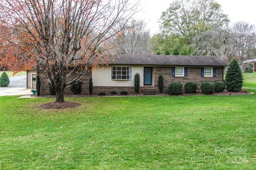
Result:
M125 65L126 66L126 65ZM140 86L143 86L143 66L132 66L132 80L111 80L111 67L96 68L92 70L93 86L134 86L134 75L140 74Z

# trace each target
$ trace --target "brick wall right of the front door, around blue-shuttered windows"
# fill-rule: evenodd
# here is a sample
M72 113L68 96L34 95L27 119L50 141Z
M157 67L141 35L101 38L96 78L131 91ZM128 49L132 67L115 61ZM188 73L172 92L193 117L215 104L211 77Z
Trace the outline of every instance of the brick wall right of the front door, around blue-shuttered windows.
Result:
M188 77L172 77L172 67L155 67L155 88L158 89L159 74L163 74L164 91L166 91L168 84L171 81L180 81L183 86L188 81L196 81L198 89L200 89L203 81L217 81L222 80L223 68L217 68L216 77L201 77L201 67L188 67Z

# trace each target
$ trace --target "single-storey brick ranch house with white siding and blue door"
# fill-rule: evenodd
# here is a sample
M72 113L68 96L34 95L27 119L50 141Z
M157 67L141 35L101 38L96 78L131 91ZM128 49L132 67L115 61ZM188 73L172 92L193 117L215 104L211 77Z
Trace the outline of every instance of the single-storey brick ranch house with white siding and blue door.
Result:
M135 93L134 75L140 74L140 92L157 93L158 76L163 75L164 91L171 81L180 81L183 85L188 81L196 81L198 87L203 81L223 80L223 70L227 64L215 56L171 56L171 55L118 55L115 62L106 67L99 67L87 72L83 79L82 94L89 94L89 80L92 77L93 94L100 91L110 94L122 90ZM72 75L68 80L76 77ZM41 94L49 94L49 81L43 73L41 79ZM36 72L27 72L28 88L36 87ZM200 88L198 88L200 89ZM71 94L70 86L65 94Z

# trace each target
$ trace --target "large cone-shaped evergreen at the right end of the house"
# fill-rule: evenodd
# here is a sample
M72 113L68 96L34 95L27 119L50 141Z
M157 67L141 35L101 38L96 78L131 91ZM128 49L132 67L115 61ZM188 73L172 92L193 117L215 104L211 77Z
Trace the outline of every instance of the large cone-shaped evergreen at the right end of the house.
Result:
M228 91L239 91L243 86L243 75L236 60L231 60L228 64L225 79Z

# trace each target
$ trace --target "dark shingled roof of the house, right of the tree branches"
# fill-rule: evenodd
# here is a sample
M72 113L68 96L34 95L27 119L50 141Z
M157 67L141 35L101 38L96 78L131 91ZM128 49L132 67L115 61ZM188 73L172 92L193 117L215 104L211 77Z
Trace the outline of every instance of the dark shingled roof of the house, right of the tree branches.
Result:
M178 55L117 55L110 64L129 65L209 65L226 66L216 56L178 56Z

